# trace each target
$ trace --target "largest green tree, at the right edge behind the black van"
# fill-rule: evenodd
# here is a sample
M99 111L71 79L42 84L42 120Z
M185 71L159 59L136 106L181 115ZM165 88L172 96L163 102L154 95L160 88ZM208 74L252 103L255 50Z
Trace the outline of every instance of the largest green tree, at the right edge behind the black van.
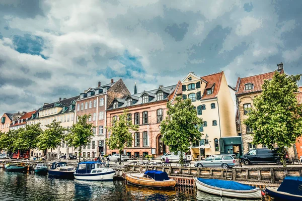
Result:
M254 99L254 108L244 121L253 129L253 144L280 148L284 166L284 148L292 146L302 134L302 107L294 94L300 76L275 72L272 80L265 80L262 94Z

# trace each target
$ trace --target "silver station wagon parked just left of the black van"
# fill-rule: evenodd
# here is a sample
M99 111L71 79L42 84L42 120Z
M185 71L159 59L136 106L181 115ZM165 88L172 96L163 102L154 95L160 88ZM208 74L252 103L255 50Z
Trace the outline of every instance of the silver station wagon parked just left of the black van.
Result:
M199 160L194 163L195 167L222 167L232 168L237 165L235 158L232 155L211 155L204 160Z

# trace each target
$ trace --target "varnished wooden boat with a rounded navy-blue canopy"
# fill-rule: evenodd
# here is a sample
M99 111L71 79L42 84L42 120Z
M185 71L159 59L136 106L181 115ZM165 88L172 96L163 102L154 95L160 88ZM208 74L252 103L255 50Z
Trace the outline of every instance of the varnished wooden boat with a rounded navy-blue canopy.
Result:
M126 180L135 185L150 187L174 187L176 181L168 177L167 172L148 170L145 173L127 173Z

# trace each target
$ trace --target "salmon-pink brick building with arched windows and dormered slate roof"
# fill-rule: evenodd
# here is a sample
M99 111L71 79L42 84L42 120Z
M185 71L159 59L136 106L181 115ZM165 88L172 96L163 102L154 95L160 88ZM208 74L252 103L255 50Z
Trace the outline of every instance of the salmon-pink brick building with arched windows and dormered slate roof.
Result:
M134 90L136 91L136 90ZM113 118L118 118L125 109L133 124L139 125L138 132L132 132L131 146L124 149L124 154L129 156L163 155L168 148L163 144L160 133L160 123L167 116L167 102L173 102L177 95L181 95L181 82L172 86L160 85L157 89L114 98L107 110L107 127L112 126ZM106 134L109 137L109 133ZM118 153L110 150L107 154Z

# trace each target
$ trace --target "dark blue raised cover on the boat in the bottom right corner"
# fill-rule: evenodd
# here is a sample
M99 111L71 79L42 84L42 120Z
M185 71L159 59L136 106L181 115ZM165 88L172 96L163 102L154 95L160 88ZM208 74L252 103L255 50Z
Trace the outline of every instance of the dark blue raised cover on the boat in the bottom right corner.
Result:
M286 176L277 191L302 195L302 177Z

